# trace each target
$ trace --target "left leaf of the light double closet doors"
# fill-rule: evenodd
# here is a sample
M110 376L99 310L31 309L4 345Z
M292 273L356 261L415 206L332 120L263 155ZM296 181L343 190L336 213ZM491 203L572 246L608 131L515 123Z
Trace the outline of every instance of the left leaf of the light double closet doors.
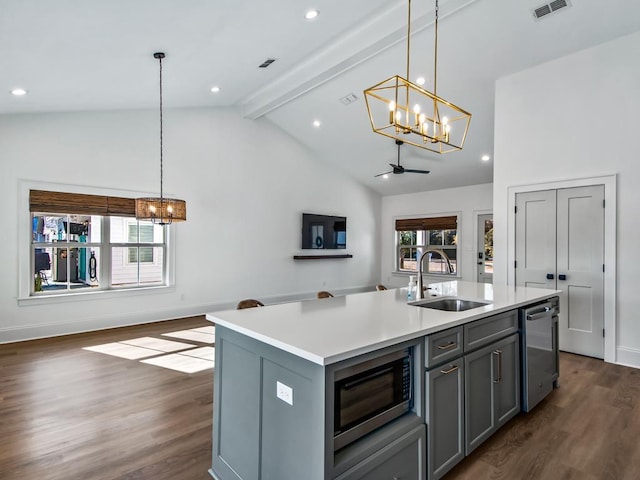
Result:
M556 191L519 193L516 208L516 285L556 288Z

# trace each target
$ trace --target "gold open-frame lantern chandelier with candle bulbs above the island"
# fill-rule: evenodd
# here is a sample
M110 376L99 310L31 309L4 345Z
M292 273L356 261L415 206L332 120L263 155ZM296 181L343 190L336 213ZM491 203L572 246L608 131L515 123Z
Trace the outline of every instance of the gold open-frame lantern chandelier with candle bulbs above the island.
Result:
M373 131L436 153L462 150L471 114L437 94L438 0L435 10L433 92L409 81L411 0L407 20L407 74L394 75L364 91Z

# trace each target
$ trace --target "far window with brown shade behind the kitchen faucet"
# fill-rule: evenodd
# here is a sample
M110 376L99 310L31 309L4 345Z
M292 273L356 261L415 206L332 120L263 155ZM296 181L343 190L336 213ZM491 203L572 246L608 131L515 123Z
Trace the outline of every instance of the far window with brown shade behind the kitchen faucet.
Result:
M458 217L430 217L396 220L396 270L417 273L423 259L423 273L458 274Z

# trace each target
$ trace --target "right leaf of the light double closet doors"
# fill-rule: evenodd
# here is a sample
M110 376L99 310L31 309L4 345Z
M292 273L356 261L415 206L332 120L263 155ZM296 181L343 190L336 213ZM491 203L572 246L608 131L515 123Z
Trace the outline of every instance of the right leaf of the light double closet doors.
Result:
M558 190L557 288L566 295L560 349L598 358L604 357L603 201L603 185Z

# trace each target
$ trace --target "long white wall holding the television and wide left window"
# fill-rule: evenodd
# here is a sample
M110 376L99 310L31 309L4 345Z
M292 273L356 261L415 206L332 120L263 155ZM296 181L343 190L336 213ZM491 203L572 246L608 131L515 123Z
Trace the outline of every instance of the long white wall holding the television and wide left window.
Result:
M187 201L175 289L118 298L18 301L21 180L159 189L157 111L0 116L4 211L0 342L175 318L317 290L359 289L380 272L380 198L325 167L267 120L230 109L165 112L165 191ZM347 260L294 261L302 212L347 217ZM28 270L27 270L28 271ZM21 304L19 304L21 303Z

